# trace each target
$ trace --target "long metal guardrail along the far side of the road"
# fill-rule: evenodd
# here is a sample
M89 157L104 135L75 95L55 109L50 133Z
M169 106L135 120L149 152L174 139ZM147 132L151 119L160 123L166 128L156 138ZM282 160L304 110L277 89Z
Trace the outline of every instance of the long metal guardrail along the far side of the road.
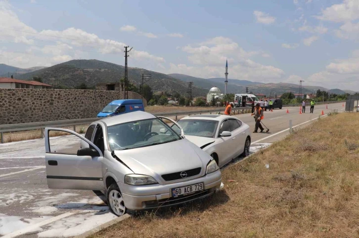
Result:
M234 107L232 108L232 112L234 114L239 114L240 112L247 113L251 112L251 107ZM165 112L165 113L156 113L156 116L171 116L175 117L177 120L178 116L181 115L193 115L193 114L202 114L202 113L218 113L224 112L224 107L219 109L210 109L210 110L196 110L196 111L178 111L178 112ZM0 142L4 142L3 133L5 132L17 132L17 131L29 131L41 129L41 137L44 137L44 129L45 127L74 127L74 131L76 131L77 125L86 125L91 124L94 121L100 120L101 118L84 118L84 119L72 119L72 120L61 120L61 121L48 121L48 122L31 122L31 123L19 123L19 124L7 124L0 125Z

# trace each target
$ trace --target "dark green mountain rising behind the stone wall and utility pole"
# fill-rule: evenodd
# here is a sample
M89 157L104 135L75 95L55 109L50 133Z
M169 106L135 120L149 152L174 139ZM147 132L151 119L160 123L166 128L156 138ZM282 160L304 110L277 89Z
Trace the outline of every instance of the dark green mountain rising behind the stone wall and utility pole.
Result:
M146 84L153 92L174 92L181 95L187 92L188 84L167 74L146 70L143 68L128 68L129 80L135 85L142 81L142 73L151 73L152 79ZM52 67L18 75L19 79L30 80L34 76L43 78L44 83L53 86L74 88L82 83L95 86L97 83L119 82L125 75L125 67L99 60L71 60ZM193 97L205 96L208 90L193 86Z

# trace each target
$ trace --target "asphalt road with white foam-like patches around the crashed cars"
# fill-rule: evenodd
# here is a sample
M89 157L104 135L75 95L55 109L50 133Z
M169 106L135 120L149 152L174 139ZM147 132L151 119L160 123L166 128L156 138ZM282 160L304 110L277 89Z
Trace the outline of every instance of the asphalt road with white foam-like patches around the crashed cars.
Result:
M289 113L286 113L286 110ZM289 134L293 126L304 127L324 111L344 111L342 103L318 105L314 113L299 114L299 107L265 111L264 124L269 133L252 134L251 152L267 147ZM254 130L250 114L235 115ZM311 121L312 120L312 121ZM307 122L307 123L306 123ZM304 124L303 124L304 123ZM284 131L284 132L282 132ZM78 147L73 137L51 138L59 149ZM4 237L71 237L110 221L116 216L92 191L48 189L45 172L44 139L0 144L0 236ZM39 227L36 224L42 223ZM25 234L14 234L29 228Z

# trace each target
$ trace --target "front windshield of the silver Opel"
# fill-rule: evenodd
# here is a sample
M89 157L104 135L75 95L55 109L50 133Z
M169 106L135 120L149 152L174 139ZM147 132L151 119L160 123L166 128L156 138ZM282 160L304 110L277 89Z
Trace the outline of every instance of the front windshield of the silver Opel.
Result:
M163 144L180 139L180 136L166 123L157 118L108 127L107 137L112 151Z

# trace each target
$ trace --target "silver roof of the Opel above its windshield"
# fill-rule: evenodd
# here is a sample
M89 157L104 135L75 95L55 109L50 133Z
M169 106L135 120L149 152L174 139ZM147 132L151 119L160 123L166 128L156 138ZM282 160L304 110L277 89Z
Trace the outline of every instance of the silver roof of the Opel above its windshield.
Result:
M121 123L153 119L153 118L156 117L151 113L144 111L134 111L134 112L120 114L117 116L105 117L104 119L101 119L99 121L105 123L108 127L110 127Z

